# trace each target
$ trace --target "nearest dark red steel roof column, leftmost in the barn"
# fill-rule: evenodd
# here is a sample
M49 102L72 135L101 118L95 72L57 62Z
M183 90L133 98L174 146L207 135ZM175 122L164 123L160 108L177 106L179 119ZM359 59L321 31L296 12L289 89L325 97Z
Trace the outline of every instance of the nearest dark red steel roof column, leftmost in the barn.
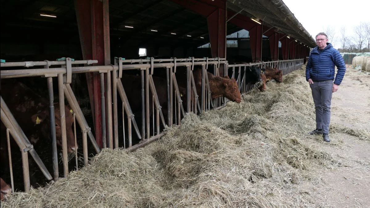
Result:
M78 32L83 59L98 60L99 65L109 65L109 5L108 0L74 0ZM100 76L86 73L94 121L95 140L102 148Z

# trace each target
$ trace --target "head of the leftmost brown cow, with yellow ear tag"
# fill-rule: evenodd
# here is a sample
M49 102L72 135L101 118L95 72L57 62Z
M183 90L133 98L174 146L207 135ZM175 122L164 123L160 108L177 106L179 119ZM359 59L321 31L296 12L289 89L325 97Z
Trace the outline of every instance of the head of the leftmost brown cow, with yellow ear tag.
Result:
M62 127L60 122L60 108L59 105L55 105L55 134L57 137L57 145L62 147ZM41 135L45 138L51 139L50 136L50 116L49 116L49 109L45 109L40 113L37 113L32 116L32 122L35 125L41 125ZM78 146L75 146L74 143L74 134L73 134L73 114L70 108L65 106L65 129L66 129L66 136L67 136L67 152L72 153Z

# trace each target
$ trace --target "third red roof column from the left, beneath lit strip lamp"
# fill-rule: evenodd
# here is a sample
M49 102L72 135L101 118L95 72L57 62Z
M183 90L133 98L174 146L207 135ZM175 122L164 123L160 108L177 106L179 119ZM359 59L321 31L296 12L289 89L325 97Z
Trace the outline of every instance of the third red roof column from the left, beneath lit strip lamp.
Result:
M260 62L262 57L262 25L256 25L249 31L250 50L253 62Z

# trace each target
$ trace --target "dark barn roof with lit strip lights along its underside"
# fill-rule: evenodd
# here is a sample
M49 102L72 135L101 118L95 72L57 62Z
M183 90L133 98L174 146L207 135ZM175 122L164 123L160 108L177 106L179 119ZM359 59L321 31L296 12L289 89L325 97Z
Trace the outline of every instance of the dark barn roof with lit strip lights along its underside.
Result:
M227 7L236 12L244 9L240 14L257 17L264 25L274 26L276 31L289 34L310 47L314 46L313 38L282 1L227 0ZM171 0L110 0L109 10L111 39L120 39L121 44L198 47L209 42L206 18ZM28 34L24 41L27 38L44 42L51 38L72 39L72 36L65 36L68 31L73 31L78 41L72 0L2 0L1 18L6 30L13 30L9 35L2 32L2 42L22 41L24 32ZM228 24L227 34L241 29ZM38 34L32 35L34 32Z

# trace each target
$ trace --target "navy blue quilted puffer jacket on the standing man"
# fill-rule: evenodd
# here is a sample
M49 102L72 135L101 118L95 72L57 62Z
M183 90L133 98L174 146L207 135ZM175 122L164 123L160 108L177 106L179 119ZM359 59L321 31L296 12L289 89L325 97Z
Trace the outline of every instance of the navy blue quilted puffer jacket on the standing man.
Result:
M325 81L334 80L335 66L337 66L337 75L335 76L334 84L340 85L346 72L346 64L339 51L333 48L332 44L328 44L324 50L319 53L319 47L316 46L310 53L306 65L306 81Z

